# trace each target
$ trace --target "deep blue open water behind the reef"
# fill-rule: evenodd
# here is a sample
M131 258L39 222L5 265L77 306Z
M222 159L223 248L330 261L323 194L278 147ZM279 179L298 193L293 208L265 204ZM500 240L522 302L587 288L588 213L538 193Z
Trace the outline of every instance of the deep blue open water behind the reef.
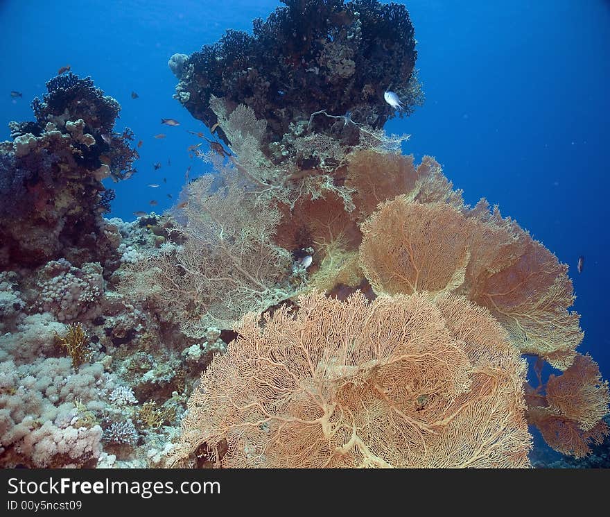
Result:
M610 378L610 2L404 3L415 26L426 102L386 129L410 133L406 153L435 156L467 203L482 196L497 203L570 266L585 331L579 350L590 352ZM168 59L215 42L227 28L250 31L254 17L279 5L1 0L0 139L9 139L9 121L33 119L30 101L46 92L44 83L60 67L71 65L121 103L115 130L129 126L134 142L143 140L138 173L110 182L116 199L108 217L162 212L177 199L189 165L191 178L207 171L186 151L201 142L186 130L204 126L172 99L177 79ZM11 90L23 98L12 99ZM162 117L181 125L162 126ZM158 133L167 137L153 138ZM162 165L157 171L155 162ZM158 205L150 207L153 199Z

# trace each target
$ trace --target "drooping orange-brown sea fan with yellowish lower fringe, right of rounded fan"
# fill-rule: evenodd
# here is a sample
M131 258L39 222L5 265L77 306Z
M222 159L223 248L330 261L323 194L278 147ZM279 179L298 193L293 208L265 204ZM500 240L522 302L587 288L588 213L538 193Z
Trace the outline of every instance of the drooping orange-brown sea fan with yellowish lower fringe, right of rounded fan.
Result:
M580 314L568 311L574 301L568 266L497 207L480 210L486 204L466 214L473 225L462 292L496 316L522 353L565 370L584 336Z

